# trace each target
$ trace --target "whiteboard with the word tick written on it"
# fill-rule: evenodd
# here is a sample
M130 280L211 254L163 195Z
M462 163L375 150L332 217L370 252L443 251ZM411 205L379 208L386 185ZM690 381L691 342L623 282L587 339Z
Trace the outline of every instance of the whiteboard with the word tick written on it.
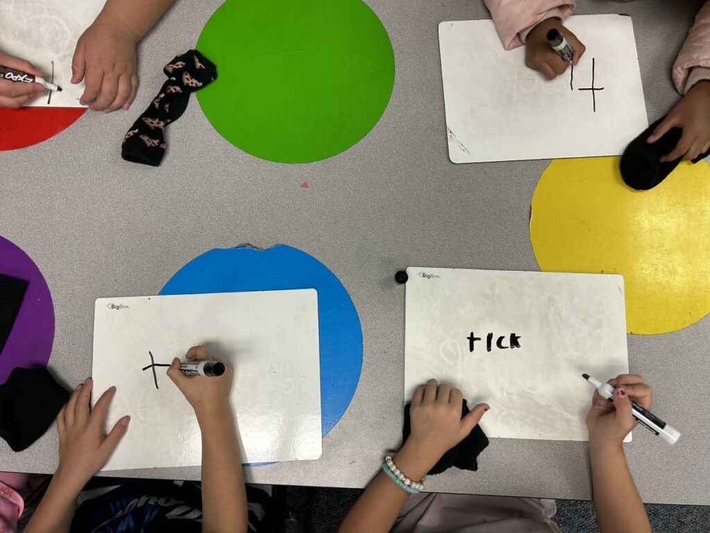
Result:
M628 372L621 276L407 273L406 399L434 377L459 387L469 405L490 404L481 421L489 437L587 440L594 388L581 374Z

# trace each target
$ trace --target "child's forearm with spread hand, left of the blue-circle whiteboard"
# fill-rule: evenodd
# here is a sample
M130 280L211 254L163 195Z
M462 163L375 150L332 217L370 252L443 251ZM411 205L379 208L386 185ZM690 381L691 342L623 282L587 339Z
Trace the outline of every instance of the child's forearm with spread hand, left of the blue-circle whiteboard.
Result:
M108 435L103 426L111 398L111 387L89 411L92 379L79 385L57 416L59 466L42 501L37 506L26 533L68 533L84 485L106 464L126 434L130 417L124 416Z

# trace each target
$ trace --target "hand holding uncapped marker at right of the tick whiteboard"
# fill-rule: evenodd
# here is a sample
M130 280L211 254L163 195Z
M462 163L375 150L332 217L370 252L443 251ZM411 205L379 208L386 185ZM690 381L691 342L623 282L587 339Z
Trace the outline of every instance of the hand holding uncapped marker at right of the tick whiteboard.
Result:
M643 377L635 374L621 374L610 379L613 385L613 403L594 391L591 407L586 415L589 429L589 446L613 444L621 446L624 437L636 425L631 416L631 399L644 409L651 409L651 387L643 382Z

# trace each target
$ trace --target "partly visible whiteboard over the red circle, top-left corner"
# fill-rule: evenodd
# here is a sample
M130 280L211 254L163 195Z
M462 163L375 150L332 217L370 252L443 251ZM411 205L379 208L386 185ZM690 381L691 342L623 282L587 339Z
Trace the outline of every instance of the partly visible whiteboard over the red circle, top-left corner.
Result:
M35 107L84 107L84 82L72 85L72 58L77 40L91 26L105 0L2 0L0 50L28 60L62 87L28 102Z

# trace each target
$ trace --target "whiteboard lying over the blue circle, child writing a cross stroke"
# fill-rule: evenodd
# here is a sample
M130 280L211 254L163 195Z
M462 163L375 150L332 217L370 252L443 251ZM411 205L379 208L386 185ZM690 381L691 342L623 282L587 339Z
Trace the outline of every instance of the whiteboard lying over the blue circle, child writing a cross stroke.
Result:
M151 355L156 363L184 360L188 348L205 343L234 367L231 404L245 463L320 457L315 289L99 298L92 401L116 385L107 428L131 416L104 470L200 465L190 404L165 367L155 367L155 377L141 369Z

